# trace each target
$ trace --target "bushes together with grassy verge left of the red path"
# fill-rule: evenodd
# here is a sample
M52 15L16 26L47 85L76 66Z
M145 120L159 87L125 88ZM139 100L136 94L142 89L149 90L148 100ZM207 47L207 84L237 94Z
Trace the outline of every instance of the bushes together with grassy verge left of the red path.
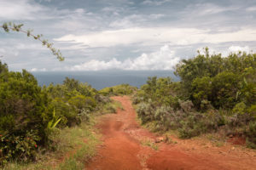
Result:
M9 71L1 61L0 84L0 166L5 169L22 169L29 162L44 162L42 156L79 147L73 160L67 160L75 166L94 153L98 139L91 132L93 117L119 107L87 83L67 77L62 84L41 88L31 73ZM60 169L67 167L65 162Z

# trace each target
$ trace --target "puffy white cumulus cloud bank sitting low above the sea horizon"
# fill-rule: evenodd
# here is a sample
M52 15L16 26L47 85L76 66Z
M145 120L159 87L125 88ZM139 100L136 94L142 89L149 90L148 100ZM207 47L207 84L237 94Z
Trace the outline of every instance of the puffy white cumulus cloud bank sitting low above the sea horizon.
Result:
M99 70L172 70L177 64L178 58L174 56L174 51L169 45L160 48L159 51L151 54L141 54L136 59L125 59L119 61L115 58L109 61L92 59L80 65L74 65L67 70L71 71L99 71Z

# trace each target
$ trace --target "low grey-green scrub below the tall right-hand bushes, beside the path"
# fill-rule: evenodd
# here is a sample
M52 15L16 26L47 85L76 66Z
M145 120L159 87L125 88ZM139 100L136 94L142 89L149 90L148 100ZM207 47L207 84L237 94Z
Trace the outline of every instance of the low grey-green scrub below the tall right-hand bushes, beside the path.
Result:
M218 111L202 114L191 109L191 102L180 103L183 109L177 111L170 106L161 105L154 109L153 105L140 103L137 105L137 114L142 123L154 121L155 130L177 129L181 138L191 138L201 133L215 131L223 122L223 117Z

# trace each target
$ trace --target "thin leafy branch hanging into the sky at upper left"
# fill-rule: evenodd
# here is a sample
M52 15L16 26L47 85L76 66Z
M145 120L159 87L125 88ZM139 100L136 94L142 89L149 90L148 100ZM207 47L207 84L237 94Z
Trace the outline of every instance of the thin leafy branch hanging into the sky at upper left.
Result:
M48 40L43 39L42 34L34 35L34 34L32 34L32 30L26 30L26 31L22 30L21 29L22 26L23 26L23 24L15 25L15 23L9 22L9 23L3 23L3 26L0 26L0 28L2 27L3 30L6 32L17 31L17 32L26 33L27 37L33 37L34 39L42 42L42 45L45 46L46 48L49 48L49 50L52 52L52 54L54 54L56 56L57 59L59 59L60 61L63 61L65 59L62 56L60 49L55 49L53 47L53 43L50 43L50 42L48 42Z

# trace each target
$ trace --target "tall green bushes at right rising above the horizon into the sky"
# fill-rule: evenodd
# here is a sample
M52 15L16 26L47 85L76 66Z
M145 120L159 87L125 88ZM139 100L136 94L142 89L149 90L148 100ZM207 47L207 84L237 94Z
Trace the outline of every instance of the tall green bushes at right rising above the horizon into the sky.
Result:
M208 100L216 108L232 109L236 103L255 100L256 54L198 54L193 59L183 59L176 67L182 79L184 96L197 108L201 100ZM192 84L192 86L191 86Z

